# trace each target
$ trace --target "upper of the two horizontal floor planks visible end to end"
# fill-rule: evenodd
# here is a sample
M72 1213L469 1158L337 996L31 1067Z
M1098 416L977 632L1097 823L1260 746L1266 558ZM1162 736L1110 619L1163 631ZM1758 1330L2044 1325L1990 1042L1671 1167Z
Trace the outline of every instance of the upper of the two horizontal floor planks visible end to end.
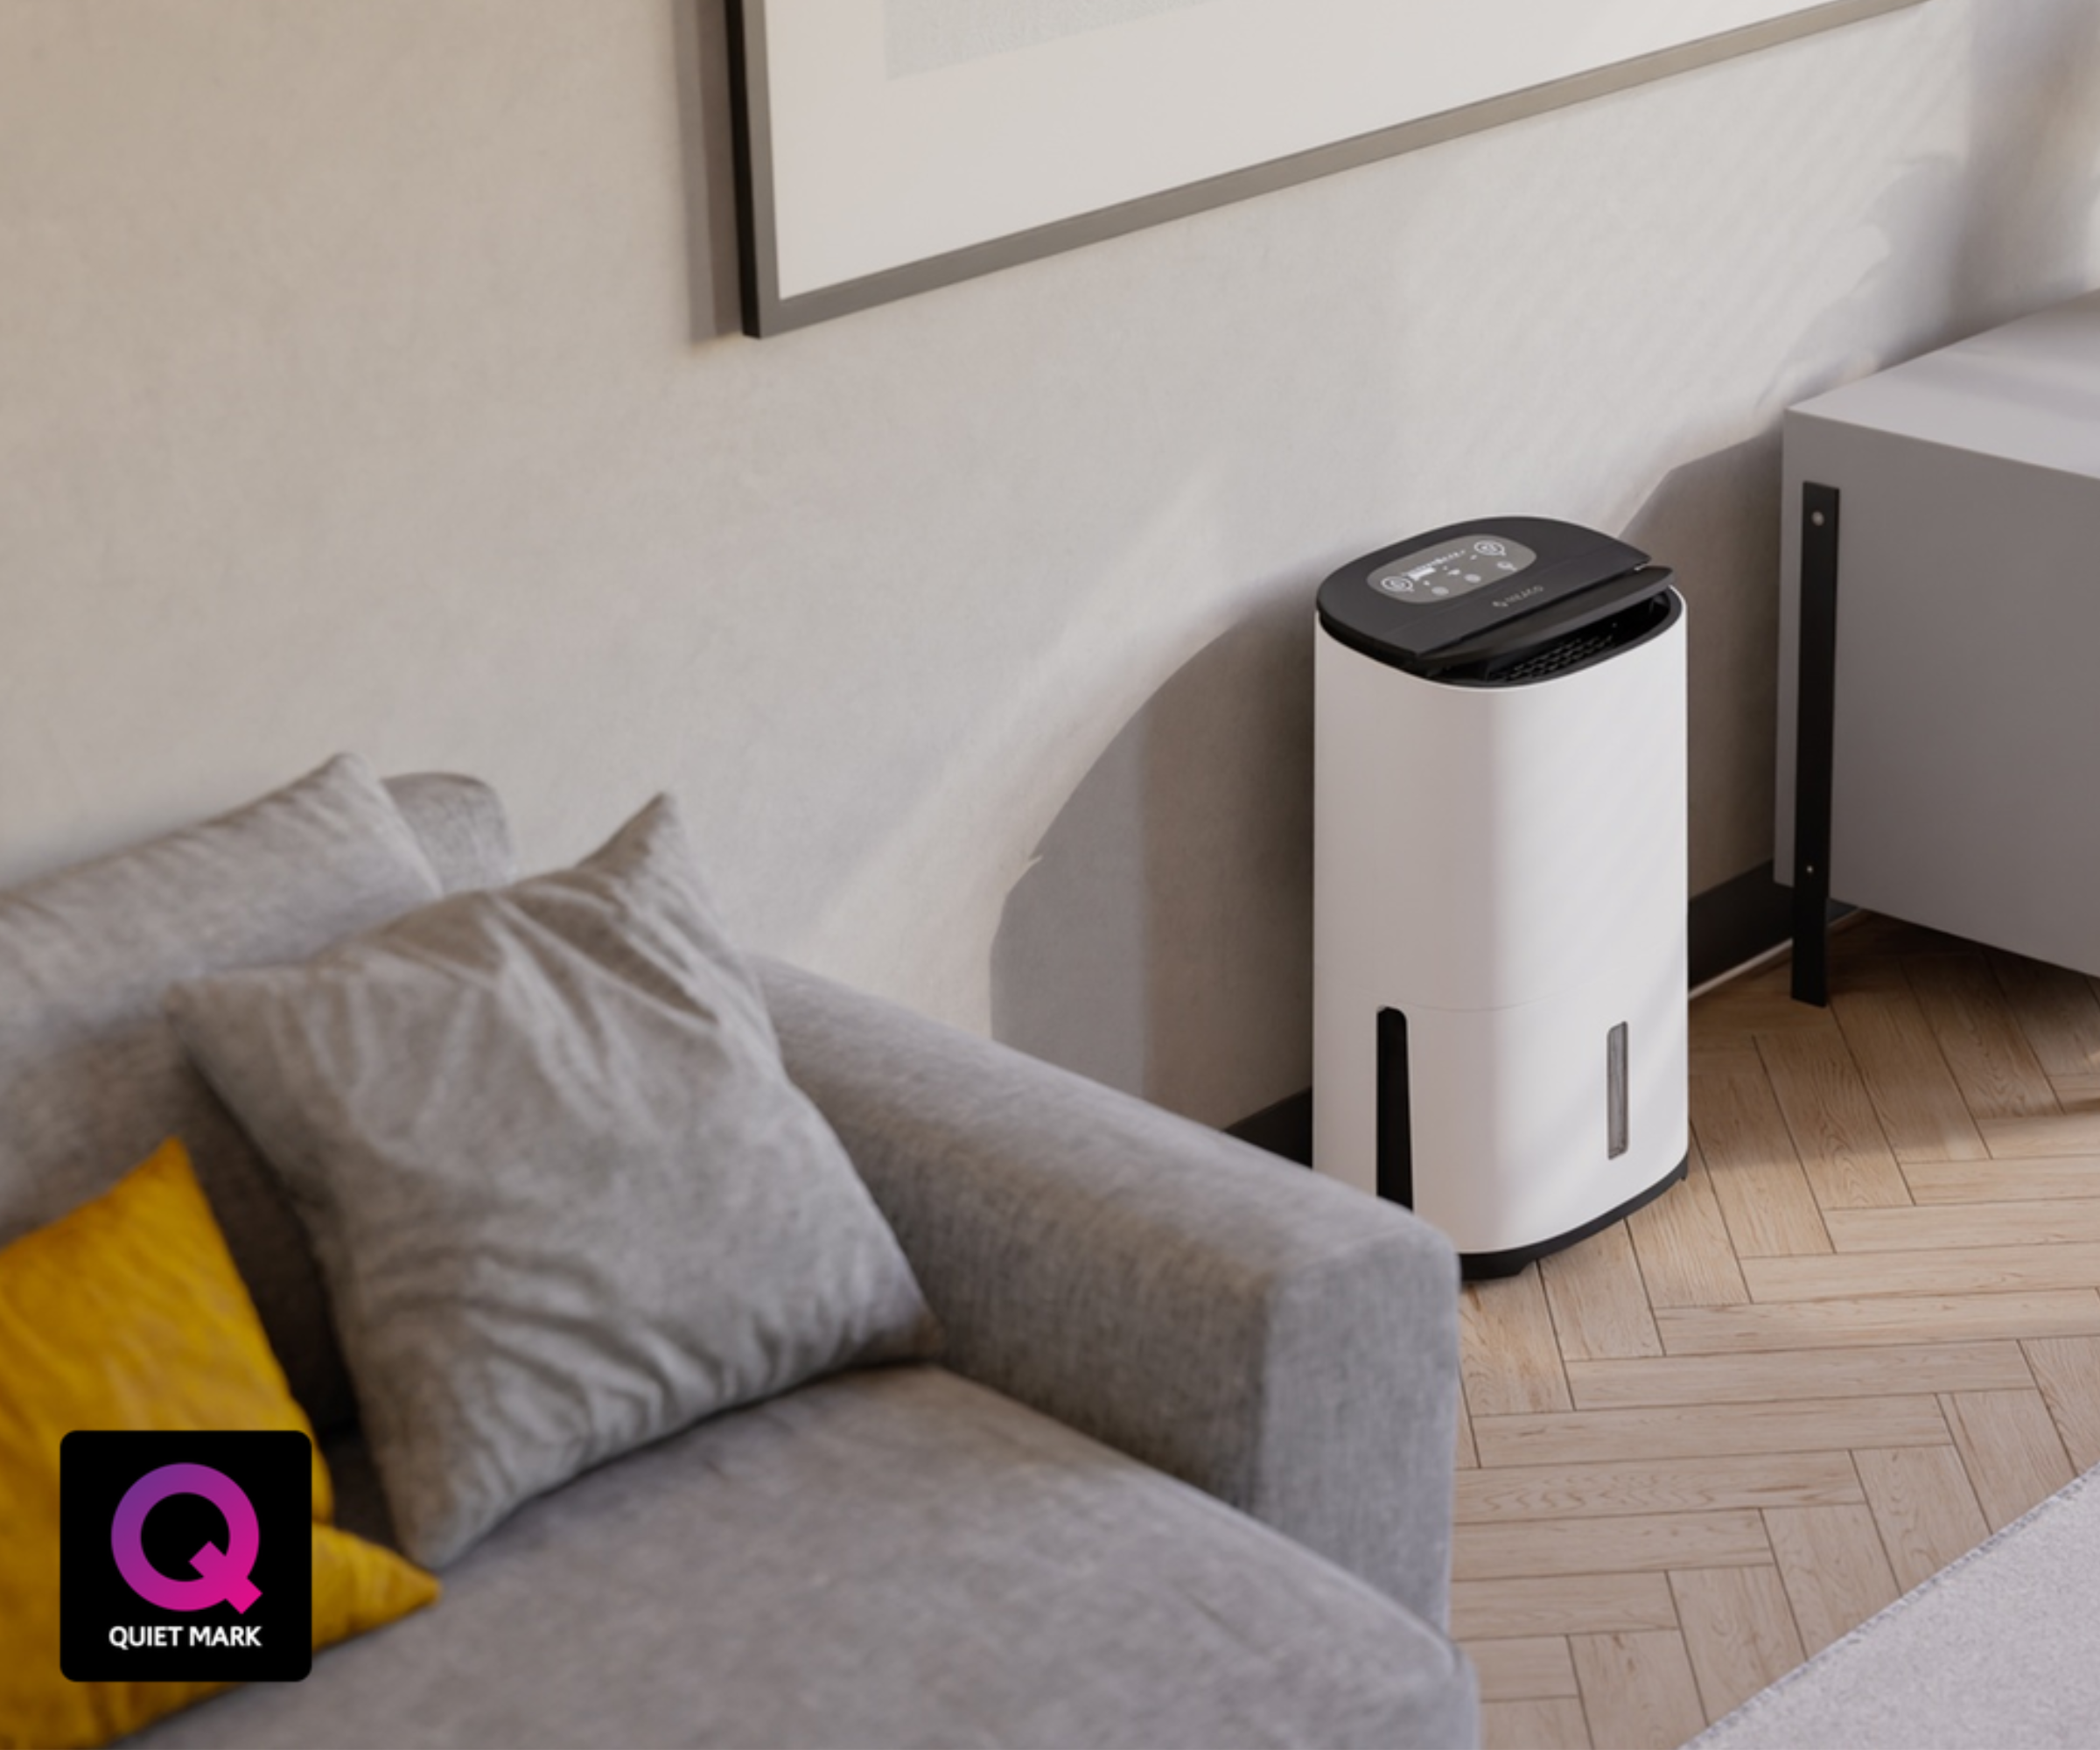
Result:
M1569 1361L1569 1389L1575 1393L1577 1410L1898 1397L1913 1391L2018 1391L2031 1382L2020 1345L2010 1340Z

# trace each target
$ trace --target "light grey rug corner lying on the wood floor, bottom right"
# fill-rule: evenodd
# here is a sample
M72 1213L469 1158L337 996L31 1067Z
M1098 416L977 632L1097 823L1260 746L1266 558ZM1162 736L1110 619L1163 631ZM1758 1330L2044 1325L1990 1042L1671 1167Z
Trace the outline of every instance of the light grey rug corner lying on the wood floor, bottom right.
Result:
M1686 1750L2100 1746L2100 1468Z

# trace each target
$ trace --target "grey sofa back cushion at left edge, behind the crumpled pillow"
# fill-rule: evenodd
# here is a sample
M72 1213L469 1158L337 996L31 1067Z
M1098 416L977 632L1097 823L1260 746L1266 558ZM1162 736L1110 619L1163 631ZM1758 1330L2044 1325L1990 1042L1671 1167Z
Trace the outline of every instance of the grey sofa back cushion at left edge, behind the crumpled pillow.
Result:
M0 895L0 1244L181 1137L292 1391L351 1416L313 1254L162 1017L174 979L296 960L437 895L380 782L344 756L218 819Z

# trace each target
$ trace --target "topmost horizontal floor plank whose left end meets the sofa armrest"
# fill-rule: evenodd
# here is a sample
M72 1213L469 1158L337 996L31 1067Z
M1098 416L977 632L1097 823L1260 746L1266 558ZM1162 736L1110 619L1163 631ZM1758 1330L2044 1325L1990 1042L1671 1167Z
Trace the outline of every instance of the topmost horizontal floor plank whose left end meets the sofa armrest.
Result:
M1863 1502L1850 1452L1621 1458L1604 1464L1506 1464L1457 1479L1457 1523L1697 1513L1718 1506Z

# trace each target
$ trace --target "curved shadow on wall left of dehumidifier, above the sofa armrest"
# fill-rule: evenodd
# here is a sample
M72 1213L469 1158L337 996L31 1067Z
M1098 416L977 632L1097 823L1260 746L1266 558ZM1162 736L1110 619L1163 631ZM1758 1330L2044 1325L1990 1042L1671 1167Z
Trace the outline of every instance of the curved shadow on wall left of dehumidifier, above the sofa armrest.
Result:
M1310 1080L1310 595L1205 645L1073 790L1000 916L991 1032L1208 1124Z

